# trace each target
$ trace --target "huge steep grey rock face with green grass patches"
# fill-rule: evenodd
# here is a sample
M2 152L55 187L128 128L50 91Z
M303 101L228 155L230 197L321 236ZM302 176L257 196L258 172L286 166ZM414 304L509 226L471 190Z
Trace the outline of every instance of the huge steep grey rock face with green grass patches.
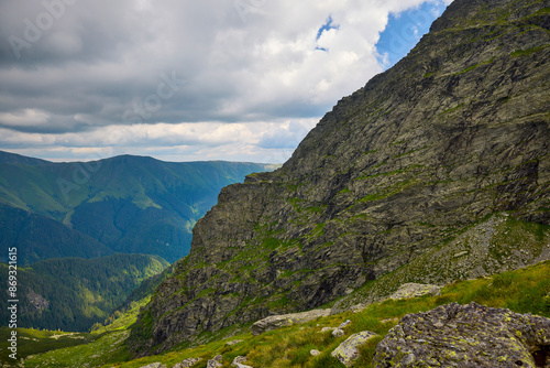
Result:
M311 310L366 281L386 296L406 282L444 284L550 258L544 7L453 1L282 169L222 190L190 255L141 313L135 354Z

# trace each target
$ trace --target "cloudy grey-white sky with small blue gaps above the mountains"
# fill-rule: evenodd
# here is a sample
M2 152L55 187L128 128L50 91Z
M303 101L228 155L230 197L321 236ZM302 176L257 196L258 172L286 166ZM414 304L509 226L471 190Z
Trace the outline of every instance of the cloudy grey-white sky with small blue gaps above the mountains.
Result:
M283 163L452 0L0 0L0 150Z

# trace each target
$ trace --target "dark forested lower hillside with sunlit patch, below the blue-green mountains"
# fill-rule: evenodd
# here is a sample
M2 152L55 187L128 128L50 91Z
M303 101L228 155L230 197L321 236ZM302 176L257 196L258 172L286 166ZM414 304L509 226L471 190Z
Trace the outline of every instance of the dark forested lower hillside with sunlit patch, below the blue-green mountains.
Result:
M142 281L163 272L168 263L154 256L113 255L96 259L50 259L18 271L18 326L89 331L103 322ZM0 283L8 283L8 267L0 263ZM0 301L7 324L8 301Z

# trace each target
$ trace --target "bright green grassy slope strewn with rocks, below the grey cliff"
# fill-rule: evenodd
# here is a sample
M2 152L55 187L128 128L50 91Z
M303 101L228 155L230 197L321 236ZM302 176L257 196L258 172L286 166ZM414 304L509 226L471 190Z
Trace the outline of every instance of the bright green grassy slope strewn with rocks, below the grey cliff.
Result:
M477 302L494 307L507 307L517 313L532 313L550 317L550 261L525 269L504 272L493 278L460 281L446 286L439 296L424 296L404 301L385 301L369 305L361 313L344 312L330 317L319 318L304 325L294 325L260 336L250 333L219 339L207 345L191 348L175 348L161 356L130 360L122 344L131 321L135 321L139 306L134 307L110 327L103 335L88 345L53 350L28 359L24 367L102 367L139 368L161 361L173 367L189 357L201 357L194 367L205 368L209 358L217 354L223 356L223 367L230 367L235 356L246 356L253 367L343 367L330 353L351 334L372 331L380 336L361 347L361 357L353 367L371 367L376 344L408 313L429 311L450 302L466 304ZM350 320L342 337L320 333L323 326L338 326ZM107 333L106 333L107 332ZM228 346L226 342L242 339L242 343ZM310 356L311 349L321 355Z

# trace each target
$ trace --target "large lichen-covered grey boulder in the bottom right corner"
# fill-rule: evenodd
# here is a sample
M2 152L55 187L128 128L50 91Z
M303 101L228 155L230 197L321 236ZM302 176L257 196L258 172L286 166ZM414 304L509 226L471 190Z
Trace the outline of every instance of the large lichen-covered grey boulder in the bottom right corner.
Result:
M384 367L550 367L550 320L457 303L405 316L376 347Z

